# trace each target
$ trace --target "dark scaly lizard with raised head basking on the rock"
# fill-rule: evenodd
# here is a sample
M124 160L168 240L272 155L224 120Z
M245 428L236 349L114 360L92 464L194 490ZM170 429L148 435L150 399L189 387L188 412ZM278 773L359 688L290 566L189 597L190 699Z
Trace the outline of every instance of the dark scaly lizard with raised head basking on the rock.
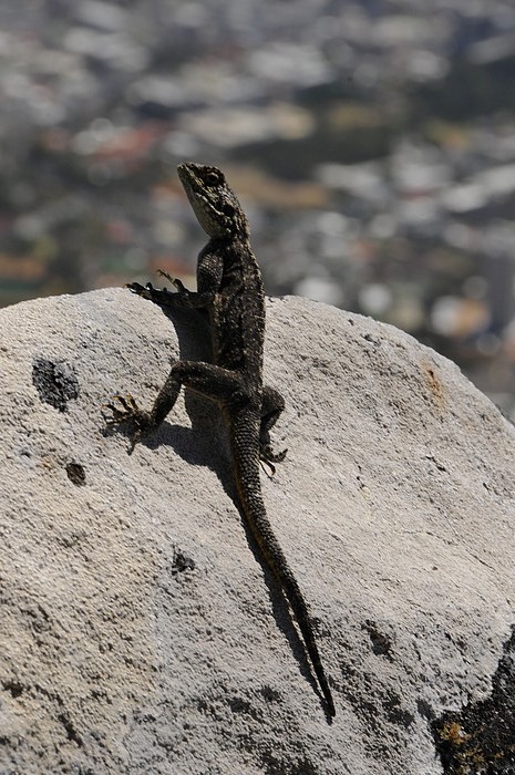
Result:
M286 450L274 453L268 434L285 407L280 393L262 384L265 292L261 272L249 241L247 217L224 174L214 166L183 163L181 183L195 216L208 236L197 259L197 290L189 291L171 278L175 291L158 290L151 282L127 288L162 308L207 310L213 362L177 360L150 412L131 395L115 395L105 404L110 425L132 424L132 450L155 431L173 409L181 388L217 402L228 430L233 472L239 507L261 557L279 582L303 638L306 651L326 701L334 702L322 666L308 606L268 518L260 485L260 461L282 461ZM131 451L132 451L131 450Z

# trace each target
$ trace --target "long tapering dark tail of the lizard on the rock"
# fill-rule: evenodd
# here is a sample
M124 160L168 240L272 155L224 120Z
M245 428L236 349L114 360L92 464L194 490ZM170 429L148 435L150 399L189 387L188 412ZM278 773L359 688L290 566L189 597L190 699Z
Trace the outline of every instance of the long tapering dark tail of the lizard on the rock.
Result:
M259 418L248 416L230 418L230 445L241 508L259 550L279 581L302 633L306 650L311 660L320 689L326 699L329 715L336 714L334 701L323 672L309 611L288 560L272 531L261 495L259 479Z

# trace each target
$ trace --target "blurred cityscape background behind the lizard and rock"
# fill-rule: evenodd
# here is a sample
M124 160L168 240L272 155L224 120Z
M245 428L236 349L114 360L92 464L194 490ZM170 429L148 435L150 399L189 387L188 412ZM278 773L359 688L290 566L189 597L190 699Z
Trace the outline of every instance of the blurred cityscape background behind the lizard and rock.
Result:
M371 314L515 418L513 0L0 3L0 304L192 282L217 164L267 292Z

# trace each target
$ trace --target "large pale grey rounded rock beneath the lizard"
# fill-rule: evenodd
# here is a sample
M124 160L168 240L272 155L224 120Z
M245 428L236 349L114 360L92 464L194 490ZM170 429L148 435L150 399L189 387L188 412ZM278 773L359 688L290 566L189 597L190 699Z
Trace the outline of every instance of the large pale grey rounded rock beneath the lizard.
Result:
M132 455L103 431L109 396L150 406L171 358L202 355L199 316L110 289L0 320L1 775L514 772L515 431L455 365L268 304L289 452L262 487L331 724L214 406L181 399Z

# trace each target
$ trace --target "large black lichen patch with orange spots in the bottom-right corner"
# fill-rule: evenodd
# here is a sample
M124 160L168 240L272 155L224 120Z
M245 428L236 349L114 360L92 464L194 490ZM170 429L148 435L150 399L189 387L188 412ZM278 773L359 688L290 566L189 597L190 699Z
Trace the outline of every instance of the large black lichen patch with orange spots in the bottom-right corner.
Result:
M492 680L492 694L446 711L433 724L445 775L515 775L515 627Z

